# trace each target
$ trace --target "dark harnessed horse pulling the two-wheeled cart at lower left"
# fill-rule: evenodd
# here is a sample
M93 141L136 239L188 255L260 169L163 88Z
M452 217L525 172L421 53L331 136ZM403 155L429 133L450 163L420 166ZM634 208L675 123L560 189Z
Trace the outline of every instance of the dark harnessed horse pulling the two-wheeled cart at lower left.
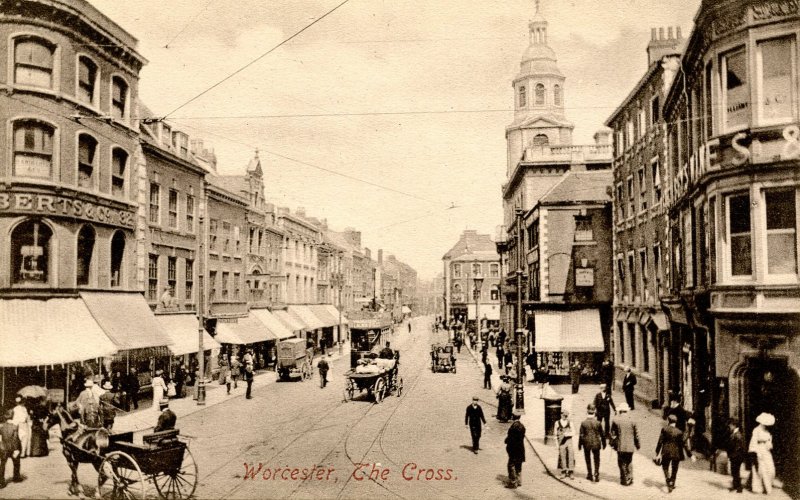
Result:
M100 474L102 455L100 450L108 446L109 432L104 427L87 427L83 425L78 416L77 406L72 411L63 406L57 406L50 412L48 428L59 424L61 429L61 452L67 459L71 477L69 495L81 496L80 483L78 482L78 465L91 463ZM104 477L103 474L101 474Z

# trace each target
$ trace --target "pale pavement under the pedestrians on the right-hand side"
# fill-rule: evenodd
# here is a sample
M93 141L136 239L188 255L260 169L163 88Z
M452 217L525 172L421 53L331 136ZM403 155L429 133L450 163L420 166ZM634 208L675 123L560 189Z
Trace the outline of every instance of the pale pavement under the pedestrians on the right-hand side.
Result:
M483 370L480 352L466 346L470 354ZM490 349L491 351L491 349ZM496 359L489 353L488 360L493 363L492 387L500 385L500 370L497 368ZM557 395L562 400L562 408L569 410L570 418L576 427L588 416L586 406L594 401L598 385L582 385L577 394L572 394L571 385L548 386L545 388L548 397ZM658 436L664 426L661 412L648 410L644 403L638 404L632 410L631 416L637 423L641 449L634 454L633 459L633 484L622 486L619 483L619 469L616 466L616 452L610 446L600 452L600 482L594 483L586 479L586 463L583 452L578 452L578 442L575 439L575 472L573 479L561 478L558 466L558 447L551 438L545 443L544 429L544 399L540 396L542 389L539 384L525 382L525 414L521 421L527 430L526 438L541 460L548 474L570 487L592 495L597 498L616 500L619 498L715 498L715 499L741 499L754 496L754 493L745 491L737 494L729 491L731 487L730 475L723 475L711 470L710 462L702 455L696 454L698 460L692 462L684 460L680 464L676 488L669 493L664 480L664 472L660 466L653 463ZM556 397L557 397L556 396ZM625 396L619 391L613 391L614 402L619 404L625 401ZM612 415L613 422L613 415ZM742 480L746 477L743 474ZM773 489L771 498L789 499L786 492L779 485Z

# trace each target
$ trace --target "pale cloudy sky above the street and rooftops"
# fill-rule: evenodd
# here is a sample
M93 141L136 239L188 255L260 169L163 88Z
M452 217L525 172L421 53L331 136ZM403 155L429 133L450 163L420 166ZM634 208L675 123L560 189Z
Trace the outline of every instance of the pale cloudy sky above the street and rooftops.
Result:
M89 1L139 40L142 102L213 145L220 174L257 149L268 201L361 231L421 279L462 231L502 224L535 0ZM688 37L699 3L541 0L573 143L644 74L650 28Z

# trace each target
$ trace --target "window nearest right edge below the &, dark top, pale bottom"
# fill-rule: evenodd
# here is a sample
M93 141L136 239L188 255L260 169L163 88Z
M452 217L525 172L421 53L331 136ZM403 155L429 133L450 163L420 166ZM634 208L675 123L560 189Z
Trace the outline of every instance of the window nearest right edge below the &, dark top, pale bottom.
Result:
M767 216L767 273L797 274L797 205L794 189L764 192Z

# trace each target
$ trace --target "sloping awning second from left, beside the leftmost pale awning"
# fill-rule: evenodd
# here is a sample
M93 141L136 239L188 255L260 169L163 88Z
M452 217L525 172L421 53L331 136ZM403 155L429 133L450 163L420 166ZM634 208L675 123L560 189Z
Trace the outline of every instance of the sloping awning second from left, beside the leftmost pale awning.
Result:
M120 351L172 344L153 311L137 292L81 292L89 312Z

